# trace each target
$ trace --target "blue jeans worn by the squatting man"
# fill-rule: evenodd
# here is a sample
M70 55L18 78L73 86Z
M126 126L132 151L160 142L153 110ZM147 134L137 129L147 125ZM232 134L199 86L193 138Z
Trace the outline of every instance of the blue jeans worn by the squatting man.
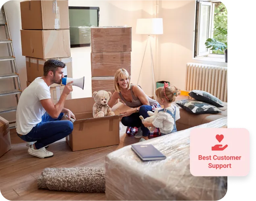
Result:
M73 131L73 123L69 120L60 121L64 113L53 119L47 112L42 121L35 125L27 135L18 135L26 142L35 142L35 148L40 149L67 137Z

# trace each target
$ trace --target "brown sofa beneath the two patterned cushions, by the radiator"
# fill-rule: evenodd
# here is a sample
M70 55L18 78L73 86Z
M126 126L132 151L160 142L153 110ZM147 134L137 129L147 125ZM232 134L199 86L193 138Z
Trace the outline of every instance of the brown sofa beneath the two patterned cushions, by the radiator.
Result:
M179 100L183 100L183 99L194 99L194 98L191 98L190 96L185 96L185 95L177 96L174 104L177 105L176 103ZM198 126L204 123L209 123L211 121L214 121L216 119L221 119L223 117L227 117L227 103L226 102L222 102L222 103L224 107L218 107L218 109L220 109L221 112L215 113L215 114L211 114L211 113L193 114L181 108L179 105L177 105L177 107L179 107L180 117L181 117L176 121L177 131Z

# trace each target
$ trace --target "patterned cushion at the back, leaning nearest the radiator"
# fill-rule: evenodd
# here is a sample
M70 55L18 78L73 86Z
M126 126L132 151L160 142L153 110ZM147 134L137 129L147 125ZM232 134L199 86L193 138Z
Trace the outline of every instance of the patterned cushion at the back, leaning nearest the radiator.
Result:
M224 107L223 103L219 98L206 91L192 90L191 92L189 92L189 96L204 103L214 105L216 107Z

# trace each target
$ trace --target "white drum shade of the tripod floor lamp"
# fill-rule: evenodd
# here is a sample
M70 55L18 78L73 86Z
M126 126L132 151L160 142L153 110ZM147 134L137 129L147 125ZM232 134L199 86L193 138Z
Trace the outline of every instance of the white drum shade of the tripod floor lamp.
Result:
M162 18L137 19L136 34L163 34Z

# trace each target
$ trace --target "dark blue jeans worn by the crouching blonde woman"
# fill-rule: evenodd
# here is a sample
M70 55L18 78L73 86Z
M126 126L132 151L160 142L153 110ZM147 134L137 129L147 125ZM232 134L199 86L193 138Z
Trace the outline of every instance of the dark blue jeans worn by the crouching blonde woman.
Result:
M139 108L138 113L133 113L128 117L123 117L121 122L123 123L124 126L137 127L137 128L140 127L142 129L142 135L144 137L148 137L148 135L150 134L150 131L148 130L148 128L146 128L143 125L142 120L139 119L140 115L142 115L142 117L144 117L144 119L149 117L148 111L152 111L152 107L150 105L142 105Z

